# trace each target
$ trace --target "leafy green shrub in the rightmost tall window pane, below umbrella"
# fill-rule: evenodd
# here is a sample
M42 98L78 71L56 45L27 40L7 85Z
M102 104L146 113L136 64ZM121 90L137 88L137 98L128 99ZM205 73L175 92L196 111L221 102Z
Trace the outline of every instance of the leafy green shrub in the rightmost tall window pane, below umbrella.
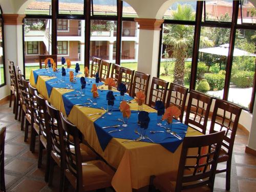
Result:
M249 88L253 84L254 72L238 71L231 76L231 82L239 88Z

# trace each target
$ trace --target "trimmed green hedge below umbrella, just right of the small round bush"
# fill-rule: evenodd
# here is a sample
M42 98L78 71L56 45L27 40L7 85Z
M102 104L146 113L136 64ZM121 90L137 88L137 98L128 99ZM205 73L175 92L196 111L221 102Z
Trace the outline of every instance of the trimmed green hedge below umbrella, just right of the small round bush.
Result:
M225 75L215 74L215 73L206 73L205 79L209 83L210 90L222 90L224 88Z

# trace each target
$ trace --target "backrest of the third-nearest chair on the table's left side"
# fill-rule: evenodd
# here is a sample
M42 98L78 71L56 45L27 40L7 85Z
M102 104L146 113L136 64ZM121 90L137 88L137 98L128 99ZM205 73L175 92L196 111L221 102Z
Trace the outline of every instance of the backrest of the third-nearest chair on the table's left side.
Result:
M44 137L47 141L47 147L50 147L51 146L50 130L46 126L47 122L49 122L47 108L46 108L46 101L44 98L40 97L37 93L35 93L35 97L37 102L37 111L38 111L37 120L39 121L40 137Z

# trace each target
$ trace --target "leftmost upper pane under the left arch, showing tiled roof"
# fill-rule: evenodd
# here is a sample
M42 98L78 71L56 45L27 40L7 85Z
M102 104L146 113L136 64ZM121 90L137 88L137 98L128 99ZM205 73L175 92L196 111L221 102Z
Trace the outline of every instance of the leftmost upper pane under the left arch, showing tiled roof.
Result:
M50 7L52 5L51 0L35 0L32 1L27 9L25 14L33 15L51 15Z

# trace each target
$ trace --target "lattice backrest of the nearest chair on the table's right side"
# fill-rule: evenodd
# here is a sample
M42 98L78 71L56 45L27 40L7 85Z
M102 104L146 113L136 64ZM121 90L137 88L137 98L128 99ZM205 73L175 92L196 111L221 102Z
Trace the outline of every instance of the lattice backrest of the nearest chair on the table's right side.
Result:
M222 148L227 151L229 158L232 155L241 111L242 108L236 104L216 99L211 117L210 133L225 131Z

